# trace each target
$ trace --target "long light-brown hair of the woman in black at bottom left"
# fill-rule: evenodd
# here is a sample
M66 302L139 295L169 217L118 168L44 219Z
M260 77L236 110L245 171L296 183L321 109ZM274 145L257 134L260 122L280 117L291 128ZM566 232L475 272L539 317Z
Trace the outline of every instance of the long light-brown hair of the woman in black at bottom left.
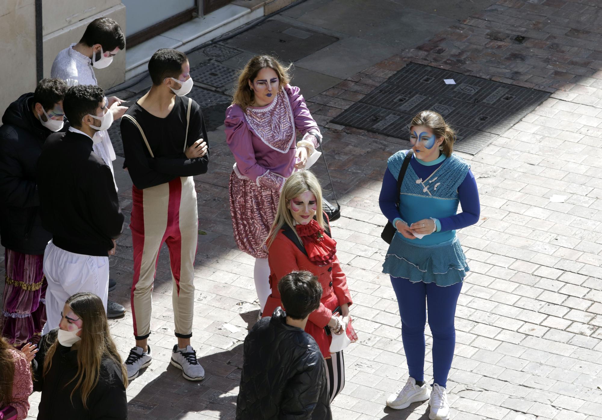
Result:
M101 298L93 293L76 293L69 297L65 304L82 320L81 344L77 350L77 372L67 382L69 384L77 380L70 398L73 401L73 394L79 388L81 401L84 404L84 408L88 409L87 400L90 397L90 393L98 384L101 363L104 357L113 360L117 366L120 366L123 386L125 387L128 386L128 373L123 366L117 346L113 338L111 338L107 323L107 314L105 313ZM52 356L54 356L54 352L57 350L57 343L58 339L52 343L46 353L43 370L44 376L48 374L52 366Z

